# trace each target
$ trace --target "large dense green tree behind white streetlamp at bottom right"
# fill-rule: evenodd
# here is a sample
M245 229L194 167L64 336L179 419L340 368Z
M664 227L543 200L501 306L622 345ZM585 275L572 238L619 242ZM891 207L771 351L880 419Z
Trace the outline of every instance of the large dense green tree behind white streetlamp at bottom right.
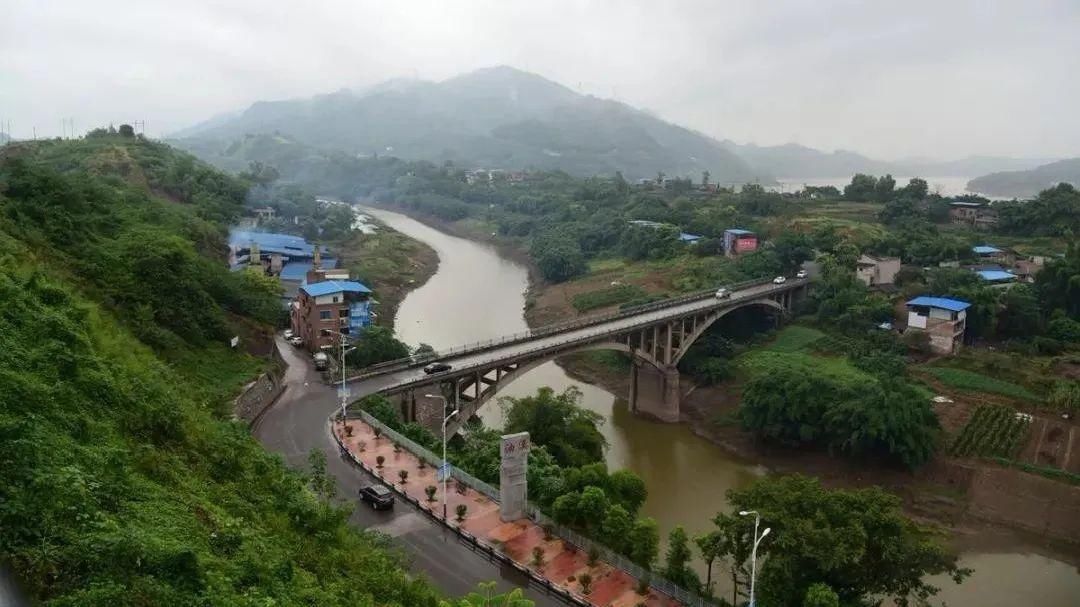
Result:
M772 529L758 548L762 605L800 605L818 583L841 605L881 597L908 605L937 592L928 577L948 574L959 583L970 574L940 531L906 518L900 499L878 488L829 490L813 478L770 476L729 491L729 501L735 511L756 510Z

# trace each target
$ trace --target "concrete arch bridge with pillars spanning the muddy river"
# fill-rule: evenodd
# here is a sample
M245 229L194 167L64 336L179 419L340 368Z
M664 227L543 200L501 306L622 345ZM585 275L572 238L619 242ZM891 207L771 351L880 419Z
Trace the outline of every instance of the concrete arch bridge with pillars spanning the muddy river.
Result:
M653 380L659 378L660 397L654 400L659 403L650 401L647 413L677 421L681 399L677 365L690 346L713 323L742 308L764 308L779 323L808 285L806 279L789 279L783 284L753 281L734 285L730 297L724 299L716 298L714 292L699 293L438 352L423 361L397 361L353 377L350 392L355 400L373 393L401 395L406 418L415 419L417 396L437 391L459 412L447 427L456 433L496 392L537 366L575 352L616 350L630 354L632 361L630 407L640 410L639 373L649 368ZM426 374L422 367L434 360L451 368Z

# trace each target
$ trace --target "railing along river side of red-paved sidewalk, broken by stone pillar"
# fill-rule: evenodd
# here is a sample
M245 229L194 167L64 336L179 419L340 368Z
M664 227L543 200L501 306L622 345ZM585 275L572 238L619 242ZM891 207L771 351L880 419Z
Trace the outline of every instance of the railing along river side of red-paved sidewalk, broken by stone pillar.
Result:
M436 470L438 469L438 466L441 463L438 456L436 456L427 447L409 440L404 434L397 432L396 430L390 428L386 423L379 421L372 414L363 409L359 412L353 409L348 413L347 417L350 419L355 419L357 417L360 419L363 419L365 423L367 423L372 428L378 428L384 436L387 436L394 443L401 445L416 457L424 460L433 469ZM470 488L472 488L477 493L484 494L496 503L499 502L499 489L497 487L494 487L490 484L485 483L480 478L476 478L475 476L469 474L464 470L461 470L456 466L450 466L450 477L469 486ZM576 531L564 525L559 525L554 520L549 517L546 514L541 512L540 508L532 502L528 502L526 507L526 513L528 514L529 518L535 521L538 525L545 527L550 525L552 534L554 534L558 538L562 538L566 543L572 544L575 548L584 553L590 552L592 549L596 549L596 551L600 555L602 561L609 563L617 569L621 569L622 571L629 574L631 577L637 580L648 580L650 588L653 588L666 594L667 596L671 596L672 598L678 601L683 605L691 607L711 607L715 605L715 603L698 595L697 593L690 592L679 586L675 582L653 571L650 571L645 567L642 567L640 565L626 558L622 554L619 554L618 552L607 548L606 545L583 536L579 531Z

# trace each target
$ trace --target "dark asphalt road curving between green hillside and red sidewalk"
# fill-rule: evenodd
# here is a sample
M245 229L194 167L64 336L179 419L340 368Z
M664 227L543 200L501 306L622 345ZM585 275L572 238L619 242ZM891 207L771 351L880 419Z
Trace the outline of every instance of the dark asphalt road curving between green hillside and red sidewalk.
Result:
M411 569L427 575L446 594L460 596L486 581L498 581L501 589L526 585L524 576L473 552L456 535L408 503L399 500L389 512L376 512L361 503L357 490L375 478L342 459L334 445L326 420L338 407L337 392L322 382L303 352L281 339L278 347L288 363L287 388L254 429L255 436L267 448L282 454L297 468L307 466L311 449L323 449L327 469L337 478L339 496L355 503L350 523L393 537L411 558ZM375 389L378 383L369 382L366 387ZM564 605L536 590L527 594L540 607Z

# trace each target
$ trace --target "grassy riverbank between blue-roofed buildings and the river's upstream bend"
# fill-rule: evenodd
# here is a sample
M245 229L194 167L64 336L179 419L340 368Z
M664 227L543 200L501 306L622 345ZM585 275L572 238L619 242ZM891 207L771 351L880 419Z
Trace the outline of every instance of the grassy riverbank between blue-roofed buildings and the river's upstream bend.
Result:
M438 255L382 221L373 222L374 232L353 231L336 249L341 265L375 291L379 300L376 323L393 329L401 302L438 271Z

